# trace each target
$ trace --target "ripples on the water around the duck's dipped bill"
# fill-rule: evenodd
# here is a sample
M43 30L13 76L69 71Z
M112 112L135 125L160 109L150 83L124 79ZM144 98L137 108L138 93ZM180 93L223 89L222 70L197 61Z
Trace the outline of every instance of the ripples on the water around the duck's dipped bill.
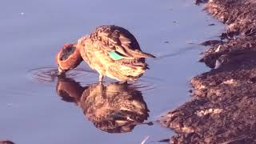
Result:
M41 67L32 70L28 70L27 75L33 81L36 82L54 82L57 80L58 69L56 67ZM67 78L78 78L81 76L90 76L90 74L94 74L93 70L86 70L82 68L76 68L74 70L70 70L66 72Z

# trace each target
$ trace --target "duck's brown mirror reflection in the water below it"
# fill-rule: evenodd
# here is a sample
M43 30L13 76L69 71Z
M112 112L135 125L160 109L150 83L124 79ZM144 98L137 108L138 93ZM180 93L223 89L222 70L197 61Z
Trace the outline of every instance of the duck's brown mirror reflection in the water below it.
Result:
M57 94L65 102L74 102L98 129L108 133L126 133L149 117L142 92L127 83L114 82L82 87L79 82L58 77Z

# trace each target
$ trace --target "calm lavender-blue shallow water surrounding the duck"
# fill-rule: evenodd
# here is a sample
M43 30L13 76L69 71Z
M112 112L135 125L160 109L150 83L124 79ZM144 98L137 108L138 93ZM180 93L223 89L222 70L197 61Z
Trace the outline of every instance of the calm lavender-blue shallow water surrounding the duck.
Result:
M222 29L190 0L10 0L0 7L0 140L24 144L140 143L147 136L146 143L158 143L170 138L174 133L155 121L189 98L190 78L207 70L197 62L204 50L198 43L217 38ZM211 23L216 25L208 26ZM60 46L106 24L130 30L143 51L158 57L147 60L150 70L128 91L120 91L142 94L135 101L150 110L142 111L149 114L144 122L153 122L152 126L138 122L129 124L132 130L128 130L125 125L125 133L108 133L94 126L90 113L76 99L94 90L98 81L98 74L86 64L70 71L71 80L64 81L80 92L78 97L60 92L59 78L50 76L56 70L54 58ZM105 89L111 90L109 85L115 81L105 81Z

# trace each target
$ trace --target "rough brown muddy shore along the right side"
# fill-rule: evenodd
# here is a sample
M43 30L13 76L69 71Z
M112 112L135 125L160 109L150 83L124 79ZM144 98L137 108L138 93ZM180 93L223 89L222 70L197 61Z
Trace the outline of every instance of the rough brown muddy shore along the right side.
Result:
M223 41L204 42L200 62L212 70L159 122L176 132L170 143L256 143L256 1L210 0L206 11L227 25Z

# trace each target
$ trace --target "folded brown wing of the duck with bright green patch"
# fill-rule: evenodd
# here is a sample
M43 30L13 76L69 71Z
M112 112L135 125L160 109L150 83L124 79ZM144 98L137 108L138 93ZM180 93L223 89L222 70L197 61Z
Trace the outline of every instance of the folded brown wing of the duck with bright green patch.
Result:
M111 58L155 58L152 54L142 52L133 34L120 26L98 26L90 38L101 43L102 50Z

